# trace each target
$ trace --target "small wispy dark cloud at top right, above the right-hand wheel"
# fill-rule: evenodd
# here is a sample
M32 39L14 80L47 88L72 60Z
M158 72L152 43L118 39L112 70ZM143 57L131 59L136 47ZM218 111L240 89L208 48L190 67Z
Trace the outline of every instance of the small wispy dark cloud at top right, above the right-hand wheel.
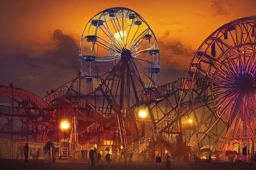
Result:
M211 15L212 16L226 16L229 13L229 11L226 9L227 6L231 6L231 4L228 4L227 2L225 1L218 1L218 0L215 0L212 2L211 4Z

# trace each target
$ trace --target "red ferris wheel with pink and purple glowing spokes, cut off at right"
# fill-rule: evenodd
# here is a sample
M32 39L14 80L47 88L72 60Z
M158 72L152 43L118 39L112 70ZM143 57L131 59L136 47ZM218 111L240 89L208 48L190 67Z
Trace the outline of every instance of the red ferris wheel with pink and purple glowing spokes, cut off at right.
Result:
M197 130L187 143L211 150L254 148L256 129L256 17L223 25L198 48L186 74ZM211 79L199 89L196 80ZM183 103L182 99L180 104ZM252 153L253 151L250 151Z

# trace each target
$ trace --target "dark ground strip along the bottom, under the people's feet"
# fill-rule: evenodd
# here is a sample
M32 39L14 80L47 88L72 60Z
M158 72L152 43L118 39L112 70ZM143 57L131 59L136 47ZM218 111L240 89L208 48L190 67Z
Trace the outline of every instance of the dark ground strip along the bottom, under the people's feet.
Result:
M43 160L30 160L28 163L24 163L21 160L7 160L7 159L0 159L0 169L2 170L86 170L89 169L86 160L77 160L76 162L68 162L63 160L58 160L56 163L44 163L42 164ZM149 162L132 162L130 167L124 168L123 163L119 162L111 162L109 165L106 161L102 161L101 167L95 167L90 169L104 169L104 170L157 170L155 167L155 163ZM164 165L162 164L161 170L164 170ZM245 165L226 165L226 164L219 164L219 165L200 165L200 164L193 164L193 163L176 163L173 162L171 164L171 170L235 170L235 169L242 169L242 170L249 170L249 169L256 169L256 163L252 166L245 166Z

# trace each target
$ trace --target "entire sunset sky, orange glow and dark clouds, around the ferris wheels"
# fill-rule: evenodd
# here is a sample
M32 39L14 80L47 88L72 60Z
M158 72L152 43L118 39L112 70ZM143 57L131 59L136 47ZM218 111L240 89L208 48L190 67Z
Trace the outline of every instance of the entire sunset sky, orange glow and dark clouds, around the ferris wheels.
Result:
M98 12L127 7L139 13L160 46L159 84L185 76L200 44L223 24L254 16L255 0L2 0L0 84L13 82L40 97L76 77L79 38Z

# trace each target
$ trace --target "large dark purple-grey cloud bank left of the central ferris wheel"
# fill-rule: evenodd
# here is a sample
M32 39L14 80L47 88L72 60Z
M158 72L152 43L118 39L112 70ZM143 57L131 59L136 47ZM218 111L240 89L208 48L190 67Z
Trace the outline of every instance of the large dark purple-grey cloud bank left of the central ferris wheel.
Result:
M0 84L13 82L20 88L44 96L76 77L80 70L78 39L54 31L48 42L0 46Z

